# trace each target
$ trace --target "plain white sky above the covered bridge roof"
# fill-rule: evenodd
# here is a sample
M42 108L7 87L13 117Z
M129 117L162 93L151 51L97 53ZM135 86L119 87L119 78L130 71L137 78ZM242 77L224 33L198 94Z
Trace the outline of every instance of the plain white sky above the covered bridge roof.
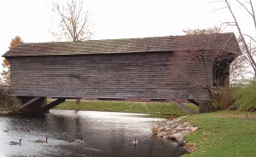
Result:
M90 11L90 22L95 25L93 39L104 39L182 35L184 29L219 26L230 21L227 9L214 11L224 3L212 1L86 0L84 3ZM48 4L45 0L0 2L0 55L9 50L15 36L25 43L54 40L49 33L52 19Z

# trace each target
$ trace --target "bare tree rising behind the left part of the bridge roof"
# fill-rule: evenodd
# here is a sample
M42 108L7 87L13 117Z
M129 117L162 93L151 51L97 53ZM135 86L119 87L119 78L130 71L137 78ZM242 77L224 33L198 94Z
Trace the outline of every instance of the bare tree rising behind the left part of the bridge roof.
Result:
M52 2L52 11L57 13L59 18L58 30L53 30L52 35L60 40L67 41L83 41L90 39L92 32L90 31L89 13L84 10L83 1L69 1L67 3ZM55 23L56 21L54 21Z

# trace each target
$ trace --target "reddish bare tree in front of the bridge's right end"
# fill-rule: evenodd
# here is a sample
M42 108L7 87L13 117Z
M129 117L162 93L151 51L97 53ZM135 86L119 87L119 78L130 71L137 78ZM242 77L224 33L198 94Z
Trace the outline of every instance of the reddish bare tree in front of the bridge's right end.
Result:
M191 35L200 38L201 35L211 34L212 38L215 39L207 41L207 47L211 50L189 50L188 55L191 61L179 65L179 67L186 67L190 74L187 76L183 74L181 77L185 78L190 84L195 84L197 87L207 90L216 108L229 108L233 101L230 96L230 90L232 89L229 88L230 76L236 78L240 75L237 72L242 71L241 60L234 61L238 58L237 55L227 55L224 51L218 49L218 44L222 42L220 38L218 41L218 36L221 35L219 34L221 28L218 26L207 29L183 30L183 32L187 35L184 38L189 38ZM196 64L196 66L191 64ZM212 68L209 68L209 65L212 65ZM179 70L176 73L178 75Z

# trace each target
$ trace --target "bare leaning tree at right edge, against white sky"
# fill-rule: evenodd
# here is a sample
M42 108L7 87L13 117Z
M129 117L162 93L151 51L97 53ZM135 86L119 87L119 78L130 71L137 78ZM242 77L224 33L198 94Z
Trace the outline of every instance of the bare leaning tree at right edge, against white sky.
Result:
M254 30L251 34L246 34L241 29L242 23L238 20L237 18L238 14L234 12L234 9L232 8L232 5L230 4L229 0L218 1L218 2L223 2L225 4L225 7L221 9L228 9L230 12L230 15L232 15L233 21L225 22L225 25L236 26L236 30L240 36L239 41L241 42L241 51L242 51L242 55L240 59L243 62L243 67L250 69L249 73L252 73L253 77L256 78L256 61L255 61L256 40L255 40L255 37L253 37L253 33L256 32L256 19L255 19L253 1L252 0L233 1L233 3L236 2L236 4L240 5L241 8L247 12L248 20L252 21Z

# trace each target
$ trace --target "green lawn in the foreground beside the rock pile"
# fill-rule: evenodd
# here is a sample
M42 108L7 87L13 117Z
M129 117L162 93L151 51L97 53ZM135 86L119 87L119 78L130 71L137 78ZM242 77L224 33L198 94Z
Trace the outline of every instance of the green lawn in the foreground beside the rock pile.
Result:
M183 120L199 130L187 140L197 148L195 153L184 156L255 156L256 113L245 117L245 113L234 111L189 115Z

